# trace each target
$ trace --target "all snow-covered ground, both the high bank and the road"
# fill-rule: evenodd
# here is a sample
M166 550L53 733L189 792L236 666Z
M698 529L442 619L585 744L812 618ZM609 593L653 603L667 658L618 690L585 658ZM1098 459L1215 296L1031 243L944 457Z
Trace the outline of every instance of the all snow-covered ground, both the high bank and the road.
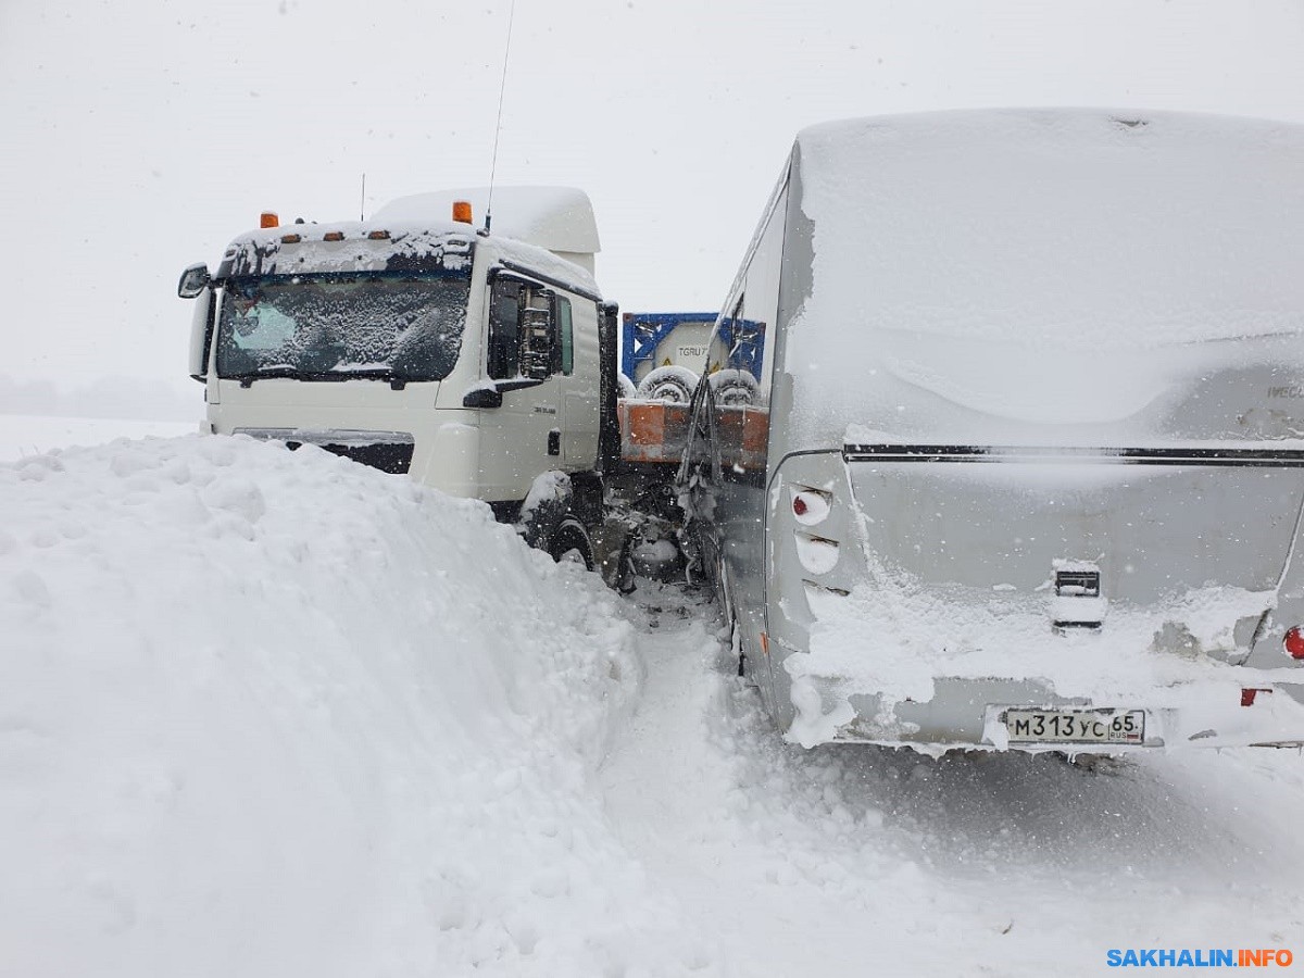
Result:
M806 751L703 593L319 451L119 441L0 505L0 974L1304 956L1296 751Z

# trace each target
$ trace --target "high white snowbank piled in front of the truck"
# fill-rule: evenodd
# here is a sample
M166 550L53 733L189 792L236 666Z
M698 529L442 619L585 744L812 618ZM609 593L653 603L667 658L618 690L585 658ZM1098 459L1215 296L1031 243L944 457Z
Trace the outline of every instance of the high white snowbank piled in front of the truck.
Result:
M305 446L0 466L0 971L683 970L591 788L596 576Z

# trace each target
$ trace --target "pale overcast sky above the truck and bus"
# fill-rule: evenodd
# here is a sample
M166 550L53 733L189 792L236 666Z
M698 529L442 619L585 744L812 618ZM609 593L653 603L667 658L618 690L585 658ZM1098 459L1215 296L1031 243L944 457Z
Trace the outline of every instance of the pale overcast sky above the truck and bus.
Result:
M0 0L0 374L189 383L177 275L258 211L488 183L509 10ZM1051 104L1304 123L1301 51L1304 0L518 0L498 181L588 192L623 309L715 309L805 125Z

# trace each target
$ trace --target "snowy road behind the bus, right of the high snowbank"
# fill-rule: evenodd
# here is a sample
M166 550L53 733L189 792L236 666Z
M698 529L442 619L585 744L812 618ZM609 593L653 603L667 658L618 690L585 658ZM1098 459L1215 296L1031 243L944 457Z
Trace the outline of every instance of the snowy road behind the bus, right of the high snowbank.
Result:
M805 751L700 596L634 600L661 610L606 810L726 974L1094 974L1110 948L1304 944L1297 752Z

